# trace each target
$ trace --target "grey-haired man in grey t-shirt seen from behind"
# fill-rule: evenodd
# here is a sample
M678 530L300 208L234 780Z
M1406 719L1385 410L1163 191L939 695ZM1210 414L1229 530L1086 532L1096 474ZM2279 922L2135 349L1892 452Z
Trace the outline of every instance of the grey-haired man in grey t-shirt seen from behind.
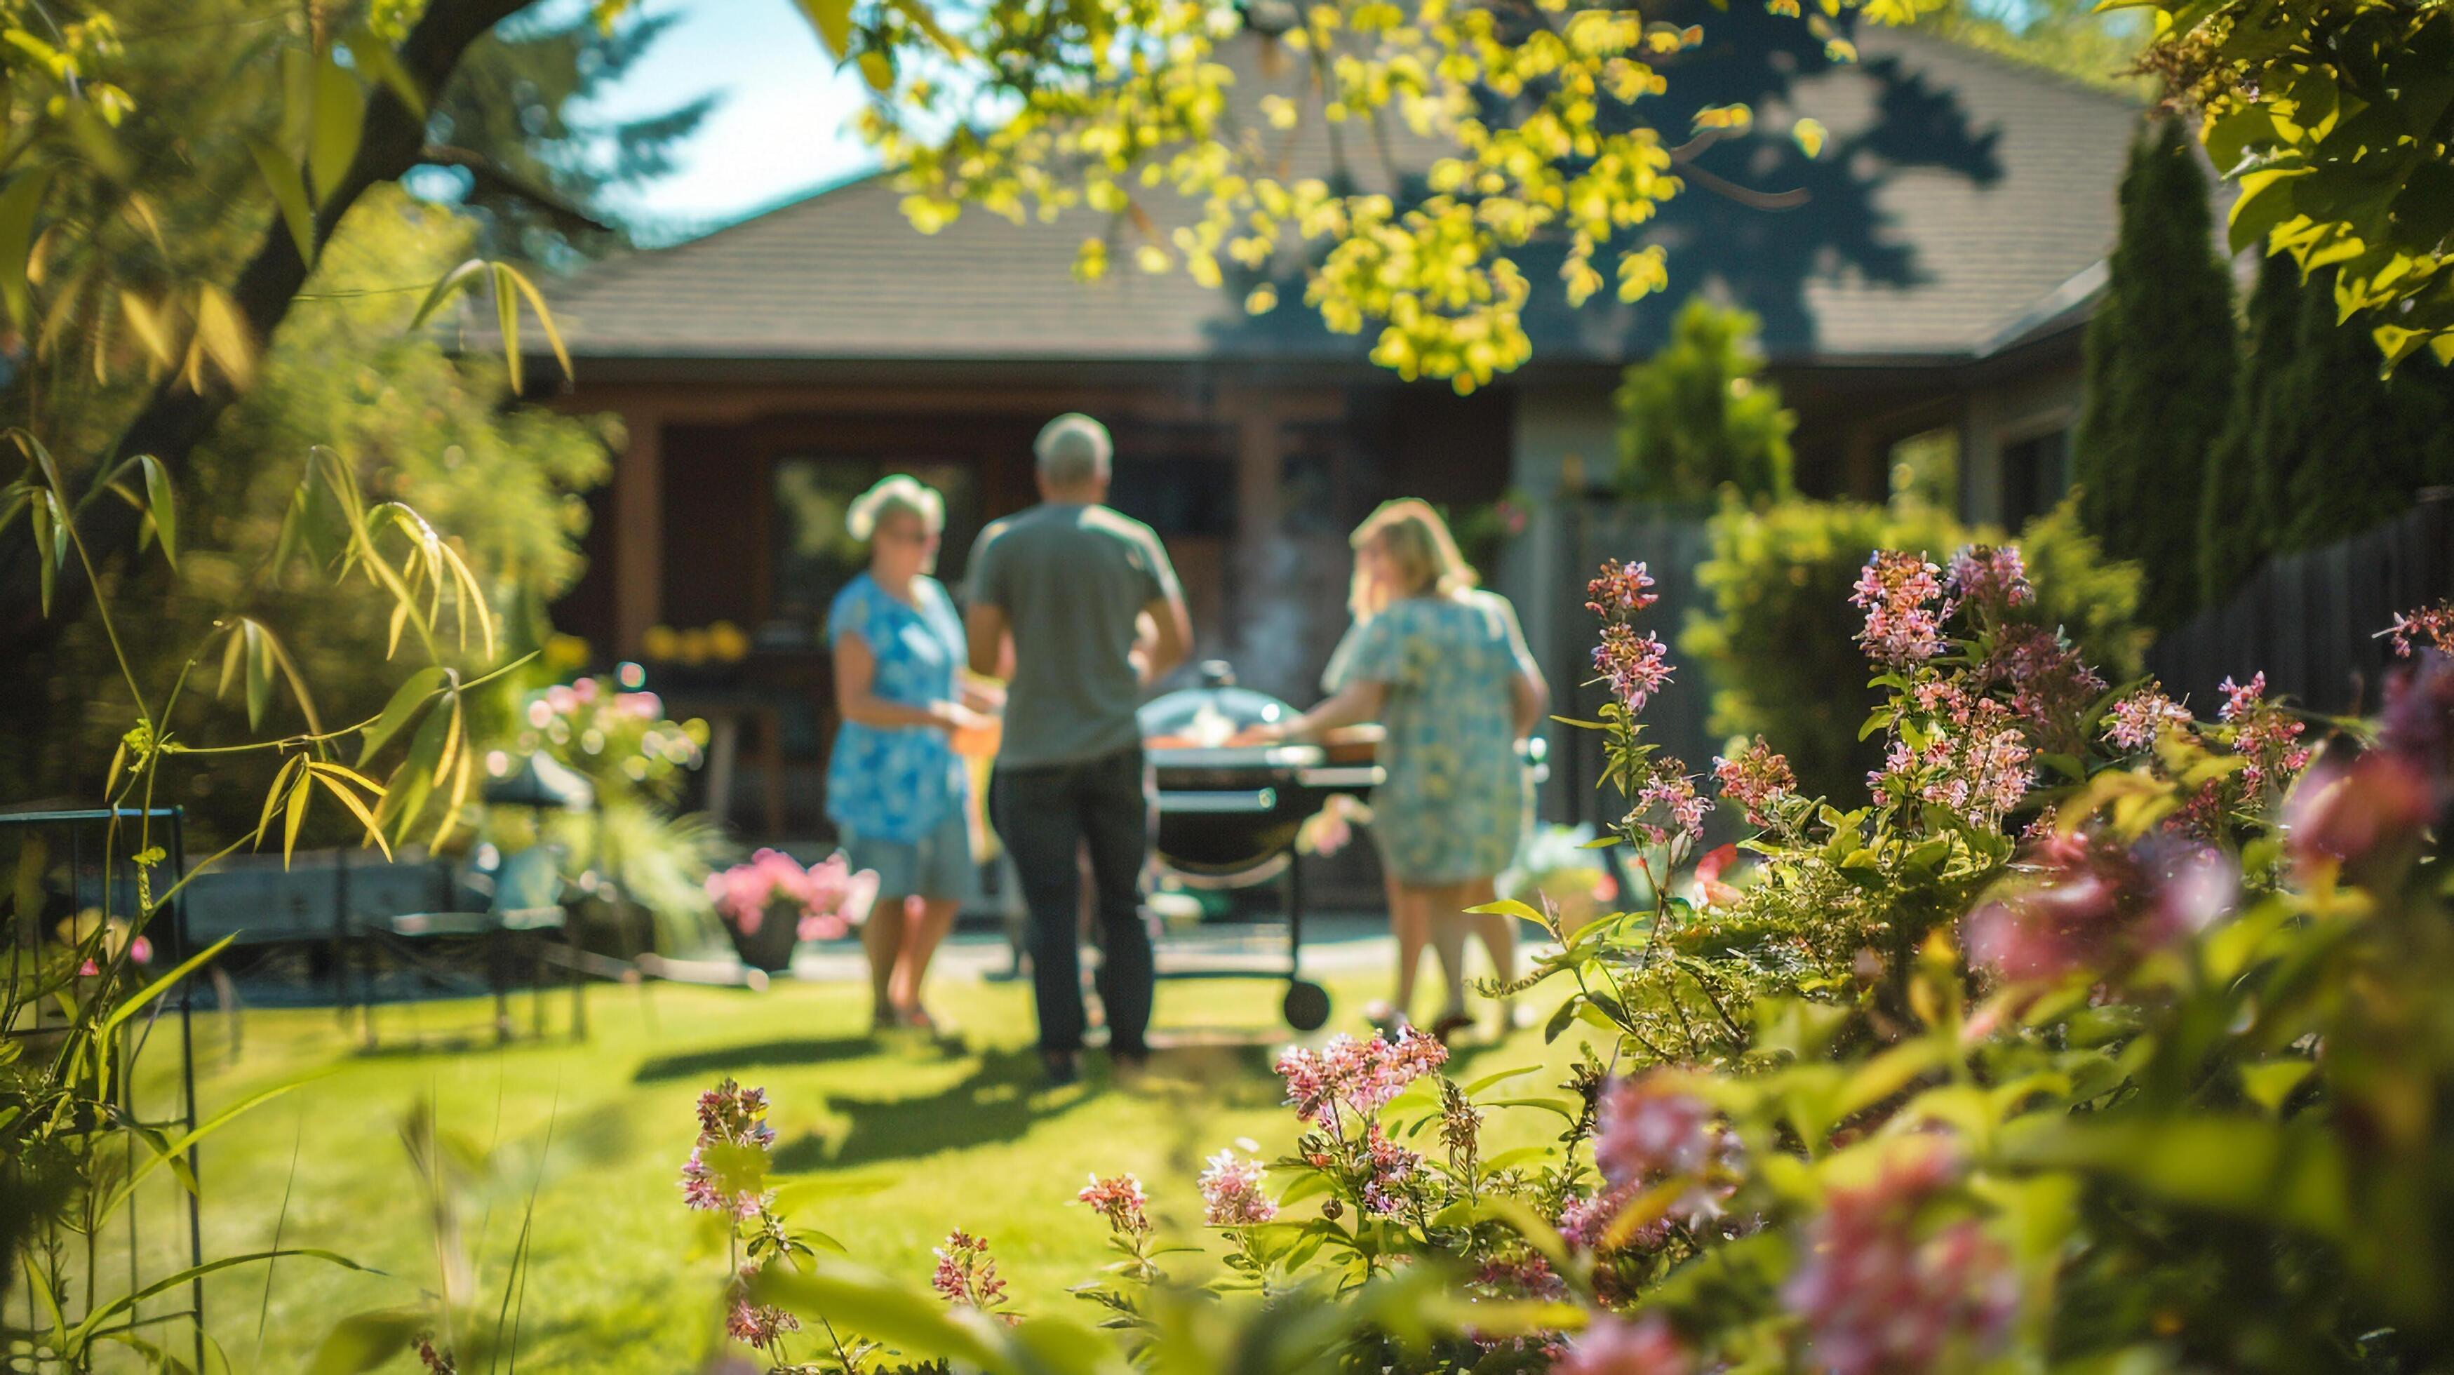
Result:
M1114 457L1107 427L1060 415L1033 454L1040 503L979 533L964 631L974 673L994 673L1014 636L989 815L1031 908L1040 1058L1050 1080L1070 1083L1082 1051L1082 850L1109 1053L1121 1063L1148 1056L1151 935L1139 879L1151 837L1134 707L1183 663L1193 624L1158 535L1102 506ZM1141 616L1158 626L1148 648L1136 648Z

